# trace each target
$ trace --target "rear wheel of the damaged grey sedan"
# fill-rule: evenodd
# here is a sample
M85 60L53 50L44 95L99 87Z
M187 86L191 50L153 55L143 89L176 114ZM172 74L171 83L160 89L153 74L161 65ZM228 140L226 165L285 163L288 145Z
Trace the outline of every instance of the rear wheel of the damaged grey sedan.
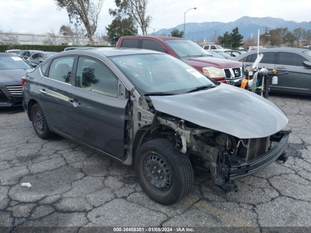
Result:
M52 133L48 127L42 108L37 103L35 103L31 109L31 120L38 137L48 139L53 136L54 133Z

